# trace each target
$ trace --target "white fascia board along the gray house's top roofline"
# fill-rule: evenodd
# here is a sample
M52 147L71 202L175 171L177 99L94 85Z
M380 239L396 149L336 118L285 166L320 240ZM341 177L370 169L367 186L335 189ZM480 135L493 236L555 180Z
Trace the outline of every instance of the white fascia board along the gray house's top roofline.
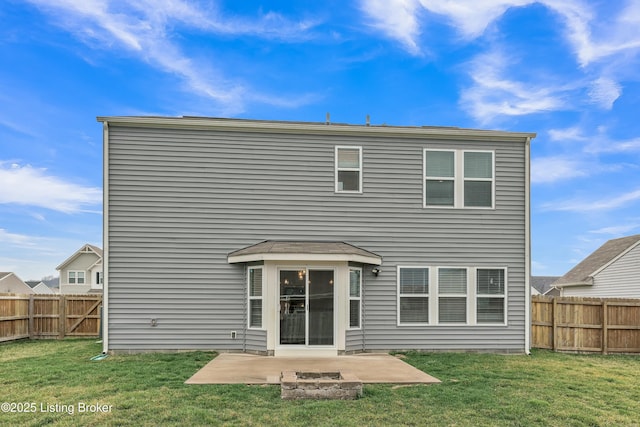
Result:
M129 127L158 128L199 128L241 132L279 132L305 134L395 136L407 138L439 138L526 142L535 138L535 133L507 132L481 129L461 129L454 127L410 127L410 126L363 126L343 124L323 124L305 122L275 122L243 119L220 119L200 117L97 117L99 122Z

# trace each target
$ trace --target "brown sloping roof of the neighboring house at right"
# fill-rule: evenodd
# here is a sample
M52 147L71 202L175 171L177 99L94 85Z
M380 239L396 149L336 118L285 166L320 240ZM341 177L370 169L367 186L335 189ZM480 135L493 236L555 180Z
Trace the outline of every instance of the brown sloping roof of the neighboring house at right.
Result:
M593 276L640 243L640 234L612 239L600 246L567 274L553 283L555 287L592 285Z

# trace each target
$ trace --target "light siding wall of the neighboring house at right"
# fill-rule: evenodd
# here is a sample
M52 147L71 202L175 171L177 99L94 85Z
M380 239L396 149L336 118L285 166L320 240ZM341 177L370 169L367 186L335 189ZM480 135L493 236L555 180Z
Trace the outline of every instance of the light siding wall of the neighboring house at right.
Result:
M564 296L640 298L640 245L596 274L592 286L566 287Z

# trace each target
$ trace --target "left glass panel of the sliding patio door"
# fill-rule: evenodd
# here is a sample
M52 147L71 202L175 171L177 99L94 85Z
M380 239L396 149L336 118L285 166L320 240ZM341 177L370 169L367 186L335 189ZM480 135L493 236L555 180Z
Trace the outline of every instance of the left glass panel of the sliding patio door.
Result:
M307 272L280 271L280 344L306 344Z

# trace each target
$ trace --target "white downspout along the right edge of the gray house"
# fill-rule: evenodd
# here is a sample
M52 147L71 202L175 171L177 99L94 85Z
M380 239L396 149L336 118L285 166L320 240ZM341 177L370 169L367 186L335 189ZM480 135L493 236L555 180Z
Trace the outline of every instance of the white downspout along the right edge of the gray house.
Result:
M531 354L531 137L527 137L525 141L525 187L524 187L524 227L525 227L525 267L524 267L524 286L525 286L525 313L524 313L524 352Z

